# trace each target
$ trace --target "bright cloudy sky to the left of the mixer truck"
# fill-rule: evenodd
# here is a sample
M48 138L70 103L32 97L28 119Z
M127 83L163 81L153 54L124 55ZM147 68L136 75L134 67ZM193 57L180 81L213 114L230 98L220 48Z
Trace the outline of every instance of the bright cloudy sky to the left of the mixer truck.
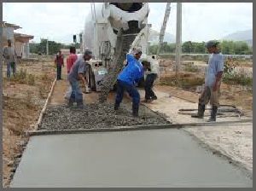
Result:
M32 34L36 41L70 34L72 43L72 34L84 28L89 8L90 3L3 3L3 20L20 25L17 32Z

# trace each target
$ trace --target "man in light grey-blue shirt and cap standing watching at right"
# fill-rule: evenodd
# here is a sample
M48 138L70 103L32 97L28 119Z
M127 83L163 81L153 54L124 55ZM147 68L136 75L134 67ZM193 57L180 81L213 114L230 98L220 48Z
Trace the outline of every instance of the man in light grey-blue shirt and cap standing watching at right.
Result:
M220 96L220 84L224 71L224 56L218 49L218 41L212 40L207 42L206 48L211 55L209 56L208 67L206 70L205 88L199 98L198 113L191 117L203 119L205 107L210 101L212 105L212 112L211 118L208 122L211 122L216 121Z

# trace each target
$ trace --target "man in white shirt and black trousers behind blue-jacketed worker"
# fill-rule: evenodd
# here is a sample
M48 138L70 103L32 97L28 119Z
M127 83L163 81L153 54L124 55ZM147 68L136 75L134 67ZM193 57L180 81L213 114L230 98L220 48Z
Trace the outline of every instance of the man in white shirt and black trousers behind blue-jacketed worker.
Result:
M146 80L144 83L145 102L153 101L157 99L157 96L155 96L152 88L154 85L154 80L157 78L159 73L159 62L154 60L154 55L152 56L152 59L150 59L149 62L150 62L150 66L148 68Z

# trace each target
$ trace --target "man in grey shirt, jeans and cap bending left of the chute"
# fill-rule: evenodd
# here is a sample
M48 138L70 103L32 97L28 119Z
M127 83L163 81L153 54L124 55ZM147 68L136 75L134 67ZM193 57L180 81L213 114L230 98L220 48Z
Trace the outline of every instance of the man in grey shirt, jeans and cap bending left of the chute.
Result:
M72 94L68 101L68 106L73 106L73 102L77 103L78 107L83 107L83 94L79 88L79 80L84 84L84 88L87 89L87 83L84 78L84 71L86 70L86 61L90 61L92 52L85 50L83 58L78 59L73 64L71 71L68 74L68 81L72 87Z

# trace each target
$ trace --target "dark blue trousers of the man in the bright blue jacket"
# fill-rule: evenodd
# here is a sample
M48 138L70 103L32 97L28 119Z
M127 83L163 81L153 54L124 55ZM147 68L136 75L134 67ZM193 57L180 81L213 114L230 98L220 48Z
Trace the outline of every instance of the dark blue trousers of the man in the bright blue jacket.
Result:
M121 80L118 80L117 82L115 105L119 107L123 100L125 90L129 93L129 96L132 97L132 108L138 108L140 103L140 94L138 93L135 85L127 84Z

